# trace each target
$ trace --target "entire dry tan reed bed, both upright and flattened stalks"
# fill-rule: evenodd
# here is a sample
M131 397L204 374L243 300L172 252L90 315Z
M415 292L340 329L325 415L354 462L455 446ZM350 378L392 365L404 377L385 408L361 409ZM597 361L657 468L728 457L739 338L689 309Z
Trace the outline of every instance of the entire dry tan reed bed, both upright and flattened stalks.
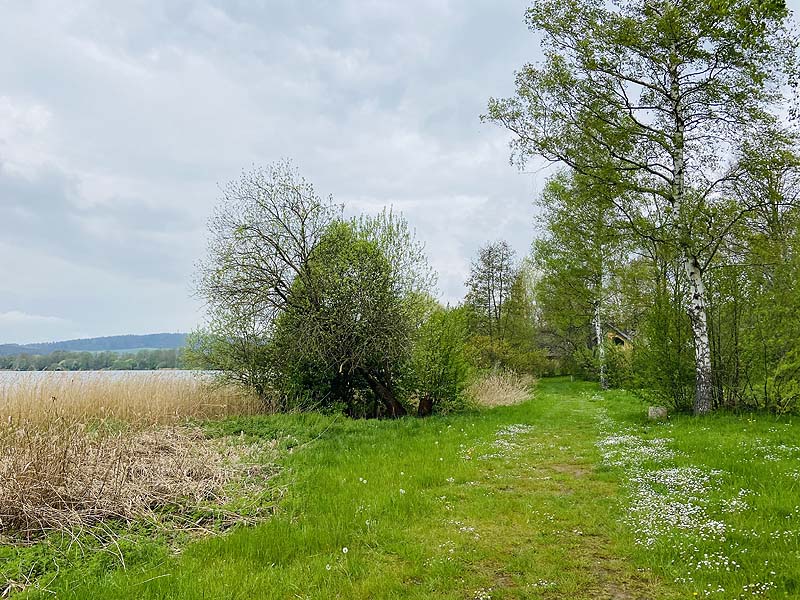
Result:
M258 404L230 388L177 374L75 377L48 374L0 387L0 536L74 533L109 519L173 521L226 489L262 488L256 445L207 440L187 418L252 414ZM236 516L232 515L232 520Z

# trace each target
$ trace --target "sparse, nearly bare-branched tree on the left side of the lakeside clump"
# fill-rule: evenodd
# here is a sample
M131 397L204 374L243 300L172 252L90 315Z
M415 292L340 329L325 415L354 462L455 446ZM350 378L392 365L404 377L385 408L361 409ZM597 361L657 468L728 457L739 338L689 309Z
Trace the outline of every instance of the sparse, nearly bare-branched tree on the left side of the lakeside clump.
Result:
M208 323L191 337L190 364L255 391L271 408L285 408L273 393L275 325L340 212L288 161L243 172L223 189L197 276Z

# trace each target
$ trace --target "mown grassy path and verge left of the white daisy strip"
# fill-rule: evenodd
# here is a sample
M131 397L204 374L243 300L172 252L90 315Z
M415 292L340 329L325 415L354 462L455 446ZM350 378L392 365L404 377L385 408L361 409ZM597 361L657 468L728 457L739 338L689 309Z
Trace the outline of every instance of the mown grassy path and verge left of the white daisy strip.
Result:
M288 492L269 522L179 553L140 548L127 570L89 565L49 589L59 598L686 597L625 558L619 475L598 467L602 408L589 389L545 382L519 406L428 420L229 423L243 435L319 433L286 461Z

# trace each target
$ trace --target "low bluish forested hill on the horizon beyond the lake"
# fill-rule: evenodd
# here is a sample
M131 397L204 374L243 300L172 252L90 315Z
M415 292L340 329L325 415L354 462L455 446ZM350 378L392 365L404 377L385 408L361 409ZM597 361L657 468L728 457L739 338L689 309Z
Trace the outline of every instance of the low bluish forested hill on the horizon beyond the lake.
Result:
M0 356L14 354L50 354L66 352L125 352L140 348L170 349L186 345L185 333L150 333L147 335L112 335L82 340L44 344L0 344Z

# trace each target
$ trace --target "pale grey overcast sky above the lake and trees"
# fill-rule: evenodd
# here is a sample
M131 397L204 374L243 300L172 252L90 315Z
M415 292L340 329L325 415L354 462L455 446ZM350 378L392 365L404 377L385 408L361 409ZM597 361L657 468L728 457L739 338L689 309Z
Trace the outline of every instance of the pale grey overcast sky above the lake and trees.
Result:
M527 4L0 0L0 343L194 328L219 186L284 157L402 211L457 301L533 237L547 172L479 121L539 57Z

